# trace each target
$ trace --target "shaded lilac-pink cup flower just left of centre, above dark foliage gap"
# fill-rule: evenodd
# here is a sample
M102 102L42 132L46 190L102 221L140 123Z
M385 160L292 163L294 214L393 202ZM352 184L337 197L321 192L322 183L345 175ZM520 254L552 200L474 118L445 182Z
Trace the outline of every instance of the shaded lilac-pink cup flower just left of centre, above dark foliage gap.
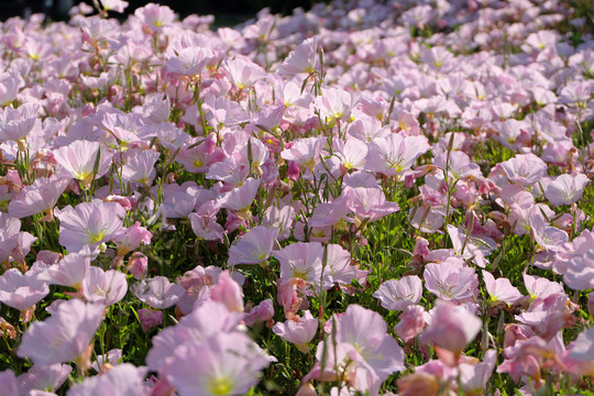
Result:
M257 226L229 248L227 265L257 264L268 260L278 229Z

